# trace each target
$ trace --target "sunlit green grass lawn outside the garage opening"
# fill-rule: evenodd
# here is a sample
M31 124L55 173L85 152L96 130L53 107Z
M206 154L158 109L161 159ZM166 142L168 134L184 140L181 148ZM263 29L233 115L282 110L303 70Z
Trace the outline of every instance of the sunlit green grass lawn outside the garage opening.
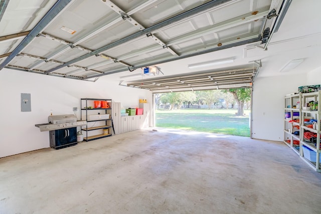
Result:
M236 109L156 110L156 126L237 136L250 136L249 113L236 116Z

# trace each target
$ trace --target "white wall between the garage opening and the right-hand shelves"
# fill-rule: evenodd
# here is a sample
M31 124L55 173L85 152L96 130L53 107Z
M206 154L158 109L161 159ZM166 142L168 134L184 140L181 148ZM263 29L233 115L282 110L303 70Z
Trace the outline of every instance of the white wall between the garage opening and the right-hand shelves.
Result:
M320 79L318 79L320 80ZM252 137L282 141L284 96L306 85L306 75L257 78L253 84Z

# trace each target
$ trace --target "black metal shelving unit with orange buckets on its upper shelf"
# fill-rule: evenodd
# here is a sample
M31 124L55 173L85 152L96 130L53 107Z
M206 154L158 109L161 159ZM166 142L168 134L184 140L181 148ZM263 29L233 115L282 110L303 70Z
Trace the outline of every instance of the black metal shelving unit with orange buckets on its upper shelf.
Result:
M106 101L109 108L93 108L94 101ZM81 108L81 120L86 120L86 127L82 127L82 131L85 131L84 141L88 142L90 140L100 139L104 137L110 137L113 130L113 122L111 119L112 109L111 99L95 99L95 98L81 98L80 108ZM90 108L91 107L91 108ZM103 114L101 114L103 113ZM90 116L94 115L106 115L109 114L108 118L89 120ZM108 129L108 133L104 133L104 130Z

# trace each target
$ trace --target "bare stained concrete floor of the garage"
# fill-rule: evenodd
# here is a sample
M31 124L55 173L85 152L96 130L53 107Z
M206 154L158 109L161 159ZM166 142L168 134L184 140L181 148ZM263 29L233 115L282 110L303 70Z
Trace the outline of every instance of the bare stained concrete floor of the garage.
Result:
M282 142L138 130L0 159L0 213L321 213Z

